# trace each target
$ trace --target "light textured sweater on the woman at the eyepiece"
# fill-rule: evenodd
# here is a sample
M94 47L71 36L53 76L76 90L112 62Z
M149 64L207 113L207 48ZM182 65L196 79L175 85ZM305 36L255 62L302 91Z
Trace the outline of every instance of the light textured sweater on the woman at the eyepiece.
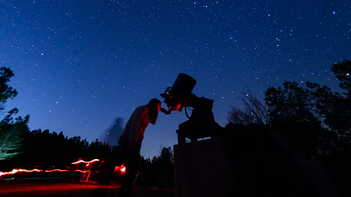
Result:
M128 145L128 149L140 150L144 132L150 122L149 110L146 105L137 107L129 118L118 144Z

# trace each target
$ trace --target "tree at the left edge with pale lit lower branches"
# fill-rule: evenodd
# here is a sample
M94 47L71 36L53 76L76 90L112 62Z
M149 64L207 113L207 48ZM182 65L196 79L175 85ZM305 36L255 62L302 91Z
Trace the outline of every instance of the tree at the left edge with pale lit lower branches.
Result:
M13 99L17 95L16 89L9 87L7 84L13 76L14 74L9 68L0 68L0 114L4 109L4 103L9 98ZM18 154L22 141L21 134L28 131L29 115L24 119L19 116L13 121L12 115L17 113L17 108L10 110L8 115L0 122L0 160L10 159Z

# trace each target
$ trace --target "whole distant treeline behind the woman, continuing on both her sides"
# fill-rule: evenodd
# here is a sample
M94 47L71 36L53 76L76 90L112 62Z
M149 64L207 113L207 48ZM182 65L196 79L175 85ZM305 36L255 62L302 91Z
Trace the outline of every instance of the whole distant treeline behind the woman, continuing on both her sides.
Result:
M123 155L120 146L95 141L89 143L80 136L68 138L62 132L50 133L41 129L26 131L21 136L21 148L18 154L10 160L0 160L2 171L12 169L70 170L71 163L78 158L87 160L99 159L109 162L109 179L119 178L120 173L114 173L115 166L121 166ZM140 174L137 183L145 187L174 188L174 165L171 147L162 147L160 154L152 159L140 156ZM54 173L52 173L54 174ZM30 176L30 175L29 175ZM49 176L49 174L47 174ZM70 176L67 173L55 173L54 176ZM67 177L68 178L68 177Z

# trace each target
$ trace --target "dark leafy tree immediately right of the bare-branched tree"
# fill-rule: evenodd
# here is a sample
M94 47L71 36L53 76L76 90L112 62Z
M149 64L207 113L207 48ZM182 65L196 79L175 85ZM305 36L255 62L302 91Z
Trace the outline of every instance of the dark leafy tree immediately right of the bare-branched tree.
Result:
M316 147L323 144L320 134L324 130L311 111L311 96L296 82L283 84L284 88L269 87L265 93L271 130L281 134L300 158L314 159ZM325 149L320 147L319 150Z

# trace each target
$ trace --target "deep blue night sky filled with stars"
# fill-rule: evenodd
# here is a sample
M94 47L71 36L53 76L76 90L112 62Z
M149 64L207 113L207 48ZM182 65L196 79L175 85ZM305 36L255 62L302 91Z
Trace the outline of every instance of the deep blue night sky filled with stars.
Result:
M95 141L158 98L179 73L227 123L248 88L263 98L284 80L339 90L332 64L351 59L351 2L1 0L0 66L14 71L6 103L28 126ZM164 108L166 104L163 103ZM184 110L159 113L141 155L177 144ZM99 137L100 136L100 137Z

